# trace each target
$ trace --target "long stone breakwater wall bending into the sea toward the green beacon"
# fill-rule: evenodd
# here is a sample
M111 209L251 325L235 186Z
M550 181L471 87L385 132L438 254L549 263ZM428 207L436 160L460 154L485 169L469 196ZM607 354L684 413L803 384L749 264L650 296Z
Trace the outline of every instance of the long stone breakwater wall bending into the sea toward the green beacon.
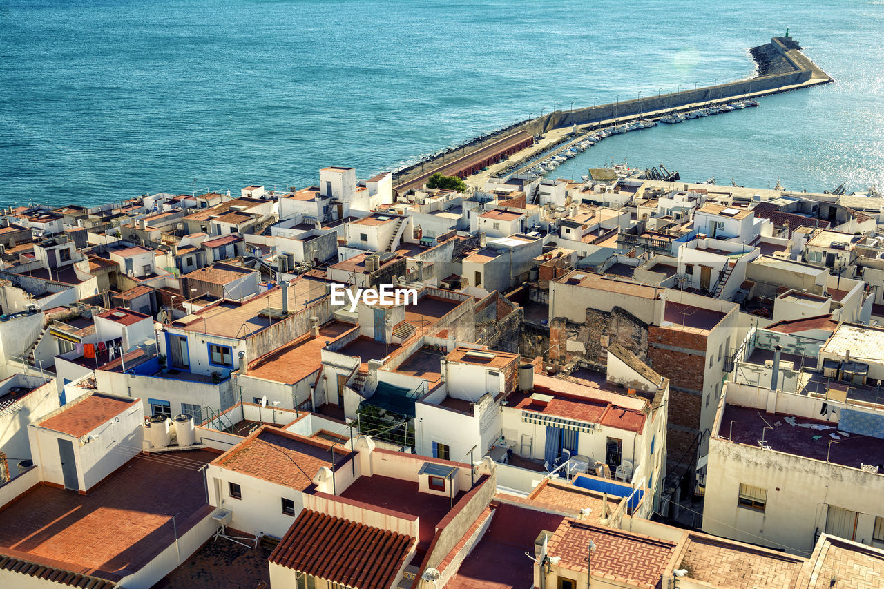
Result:
M773 37L771 42L753 48L751 55L758 64L758 75L754 78L572 111L553 111L471 140L457 148L447 149L437 156L424 158L418 164L394 172L394 185L402 192L419 187L421 177L430 173L469 169L465 164L469 163L476 151L502 142L511 134L525 132L537 136L568 126L602 126L630 119L658 117L670 111L699 108L736 97L766 96L832 81L827 73L801 53L800 46L792 37ZM487 155L484 154L484 159L488 159ZM508 155L500 153L499 159Z

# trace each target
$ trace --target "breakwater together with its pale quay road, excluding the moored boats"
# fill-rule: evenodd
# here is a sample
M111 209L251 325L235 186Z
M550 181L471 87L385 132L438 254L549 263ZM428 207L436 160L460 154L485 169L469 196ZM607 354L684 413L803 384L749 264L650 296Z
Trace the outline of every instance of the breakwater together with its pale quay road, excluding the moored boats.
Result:
M394 172L394 187L404 194L423 186L426 179L436 172L458 176L470 185L481 186L485 179L518 167L513 162L537 157L575 130L585 134L633 120L659 119L672 113L810 88L832 81L827 73L801 52L798 43L790 36L773 37L771 42L753 48L751 53L760 73L754 78L628 101L618 100L583 109L553 111ZM531 138L541 135L543 138L540 141L531 141Z

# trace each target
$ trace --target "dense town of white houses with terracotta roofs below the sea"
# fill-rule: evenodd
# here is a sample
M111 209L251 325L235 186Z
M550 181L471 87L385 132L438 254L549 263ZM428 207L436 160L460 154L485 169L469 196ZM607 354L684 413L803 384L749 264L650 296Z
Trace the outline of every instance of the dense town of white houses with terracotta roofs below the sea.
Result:
M491 172L0 210L0 585L881 586L884 198Z

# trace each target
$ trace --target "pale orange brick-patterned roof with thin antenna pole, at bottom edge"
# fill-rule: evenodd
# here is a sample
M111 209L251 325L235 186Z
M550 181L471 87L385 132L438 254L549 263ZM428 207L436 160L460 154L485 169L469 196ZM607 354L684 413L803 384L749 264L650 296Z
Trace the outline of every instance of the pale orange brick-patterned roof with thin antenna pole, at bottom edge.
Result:
M596 545L592 555L593 577L648 589L658 586L676 547L667 540L568 518L549 540L549 554L561 557L559 566L563 569L585 571L590 540Z

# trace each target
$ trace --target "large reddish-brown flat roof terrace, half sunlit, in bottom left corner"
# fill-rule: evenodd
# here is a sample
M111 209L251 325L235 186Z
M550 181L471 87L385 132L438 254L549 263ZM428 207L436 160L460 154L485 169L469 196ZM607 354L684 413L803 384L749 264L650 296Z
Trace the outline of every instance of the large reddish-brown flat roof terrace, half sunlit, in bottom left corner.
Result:
M87 495L35 486L0 512L0 553L123 578L210 513L200 469L215 457L206 450L136 455Z

